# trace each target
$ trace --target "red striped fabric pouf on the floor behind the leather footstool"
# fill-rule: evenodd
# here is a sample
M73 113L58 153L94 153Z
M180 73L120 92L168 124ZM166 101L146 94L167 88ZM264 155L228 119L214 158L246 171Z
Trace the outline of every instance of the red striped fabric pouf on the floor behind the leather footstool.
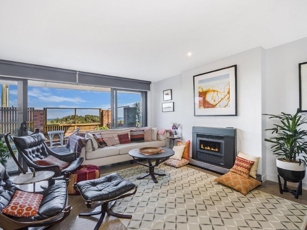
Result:
M100 176L99 167L96 165L80 165L80 167L73 173L69 175L69 184L68 184L68 194L70 195L80 195L74 187L72 186L74 183L78 183L80 181L87 181L98 179Z

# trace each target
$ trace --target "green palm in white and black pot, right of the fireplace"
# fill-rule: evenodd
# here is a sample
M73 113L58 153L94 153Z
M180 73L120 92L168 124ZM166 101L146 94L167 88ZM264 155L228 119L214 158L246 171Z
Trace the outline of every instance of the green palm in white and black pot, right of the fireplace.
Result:
M271 149L276 159L278 174L289 182L299 182L305 177L307 162L307 131L301 128L306 124L305 114L299 115L299 109L294 115L282 113L280 115L263 114L269 118L277 118L280 123L274 128L265 129L275 136L264 140L272 143Z

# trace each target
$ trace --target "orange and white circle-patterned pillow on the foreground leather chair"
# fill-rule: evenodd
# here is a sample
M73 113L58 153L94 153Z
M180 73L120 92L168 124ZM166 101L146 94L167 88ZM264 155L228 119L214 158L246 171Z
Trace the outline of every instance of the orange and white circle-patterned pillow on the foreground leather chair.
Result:
M13 217L32 217L37 214L43 195L15 191L9 205L1 210L2 213Z

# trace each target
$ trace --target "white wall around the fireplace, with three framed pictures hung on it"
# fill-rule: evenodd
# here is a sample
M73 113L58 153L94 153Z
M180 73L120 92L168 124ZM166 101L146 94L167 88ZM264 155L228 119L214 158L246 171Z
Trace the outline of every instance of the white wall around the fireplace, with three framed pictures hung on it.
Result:
M237 149L262 156L262 97L261 80L264 68L264 49L261 47L229 56L199 67L183 71L168 79L153 83L153 126L171 128L170 122L182 124L182 138L192 140L192 126L237 128ZM194 117L193 75L237 64L238 116ZM181 80L181 81L180 81ZM162 91L173 90L175 112L162 113ZM179 132L179 135L181 133ZM191 154L190 154L191 155ZM258 173L262 173L260 162Z

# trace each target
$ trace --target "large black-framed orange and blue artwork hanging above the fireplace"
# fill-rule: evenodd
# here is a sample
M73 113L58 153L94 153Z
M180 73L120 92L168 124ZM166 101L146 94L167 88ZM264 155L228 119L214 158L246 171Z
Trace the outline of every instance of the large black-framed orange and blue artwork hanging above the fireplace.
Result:
M237 116L237 65L194 76L194 116Z

